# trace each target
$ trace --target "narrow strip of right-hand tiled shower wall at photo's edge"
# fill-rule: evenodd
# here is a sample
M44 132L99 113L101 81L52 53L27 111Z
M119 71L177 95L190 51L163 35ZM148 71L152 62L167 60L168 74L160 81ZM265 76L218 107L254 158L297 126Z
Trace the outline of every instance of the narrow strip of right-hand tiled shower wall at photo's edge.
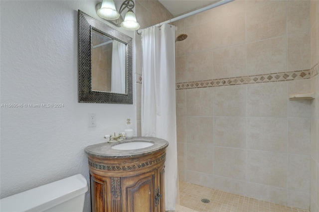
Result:
M319 62L319 2L311 1L311 67ZM311 101L311 160L310 160L310 210L319 212L319 75L311 79L311 90L316 98Z

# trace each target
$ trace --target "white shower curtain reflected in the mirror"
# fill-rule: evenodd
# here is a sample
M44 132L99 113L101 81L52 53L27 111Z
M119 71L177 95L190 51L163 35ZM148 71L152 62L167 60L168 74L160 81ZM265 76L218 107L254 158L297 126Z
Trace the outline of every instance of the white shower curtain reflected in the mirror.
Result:
M111 92L125 94L126 45L119 41L112 43Z

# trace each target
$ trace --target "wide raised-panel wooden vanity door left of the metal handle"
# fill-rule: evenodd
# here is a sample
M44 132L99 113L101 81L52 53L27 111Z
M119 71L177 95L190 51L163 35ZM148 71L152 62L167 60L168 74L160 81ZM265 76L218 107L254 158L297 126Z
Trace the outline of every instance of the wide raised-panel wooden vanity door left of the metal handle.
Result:
M157 169L121 178L122 212L155 212Z

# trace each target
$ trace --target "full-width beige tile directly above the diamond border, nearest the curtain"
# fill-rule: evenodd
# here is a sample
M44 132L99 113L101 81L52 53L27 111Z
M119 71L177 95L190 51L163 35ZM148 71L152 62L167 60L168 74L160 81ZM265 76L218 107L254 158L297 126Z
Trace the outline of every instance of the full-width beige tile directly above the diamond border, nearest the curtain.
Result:
M186 55L185 73L186 82L213 79L213 52Z

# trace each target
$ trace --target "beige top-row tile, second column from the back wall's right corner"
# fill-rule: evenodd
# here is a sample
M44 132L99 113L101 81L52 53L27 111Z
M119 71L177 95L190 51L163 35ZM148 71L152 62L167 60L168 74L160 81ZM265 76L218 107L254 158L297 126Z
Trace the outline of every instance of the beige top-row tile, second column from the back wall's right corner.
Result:
M286 35L286 1L246 1L247 42Z

